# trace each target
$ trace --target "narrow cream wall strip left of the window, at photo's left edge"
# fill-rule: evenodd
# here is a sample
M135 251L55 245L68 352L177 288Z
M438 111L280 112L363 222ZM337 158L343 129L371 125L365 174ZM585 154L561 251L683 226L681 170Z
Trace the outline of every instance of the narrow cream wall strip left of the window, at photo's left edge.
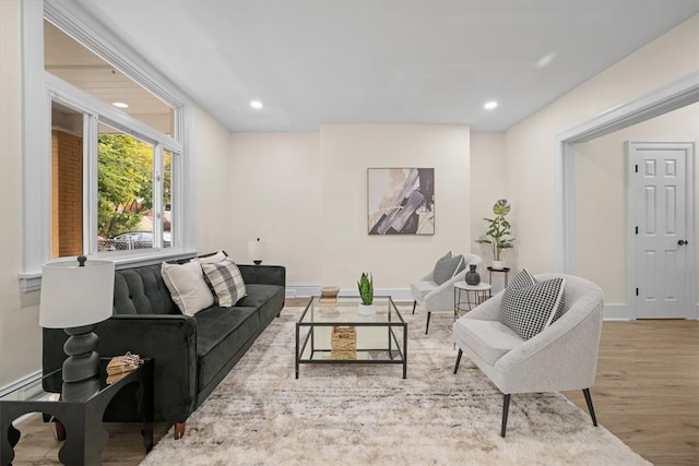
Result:
M20 3L0 1L0 387L42 367L38 292L22 270L22 72Z

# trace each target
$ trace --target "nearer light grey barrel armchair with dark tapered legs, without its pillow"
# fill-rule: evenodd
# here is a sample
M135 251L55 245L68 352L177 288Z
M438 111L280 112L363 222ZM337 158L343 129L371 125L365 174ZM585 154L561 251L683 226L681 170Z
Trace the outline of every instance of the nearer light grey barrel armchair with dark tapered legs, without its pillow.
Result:
M505 291L454 323L454 342L459 347L454 373L465 353L502 392L502 437L513 393L582 390L592 423L597 426L590 386L597 367L603 291L592 282L571 275L535 275L538 282L555 277L566 279L564 314L528 340L498 320Z

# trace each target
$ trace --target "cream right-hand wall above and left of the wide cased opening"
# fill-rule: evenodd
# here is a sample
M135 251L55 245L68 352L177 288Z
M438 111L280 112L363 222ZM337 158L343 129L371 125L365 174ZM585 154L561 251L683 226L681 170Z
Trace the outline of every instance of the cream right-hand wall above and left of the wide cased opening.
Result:
M517 205L518 266L533 273L554 267L556 135L699 69L698 34L699 15L507 131L506 183ZM581 251L588 253L593 251Z

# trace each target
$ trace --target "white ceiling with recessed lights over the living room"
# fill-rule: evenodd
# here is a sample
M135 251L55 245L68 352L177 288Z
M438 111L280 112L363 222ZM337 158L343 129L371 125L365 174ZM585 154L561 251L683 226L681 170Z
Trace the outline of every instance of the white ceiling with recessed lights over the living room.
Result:
M503 131L699 13L699 0L76 1L230 131Z

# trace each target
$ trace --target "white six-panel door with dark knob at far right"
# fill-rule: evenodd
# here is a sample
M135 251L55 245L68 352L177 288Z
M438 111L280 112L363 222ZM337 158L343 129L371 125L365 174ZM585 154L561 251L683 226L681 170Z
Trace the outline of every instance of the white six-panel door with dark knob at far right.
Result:
M690 315L695 238L690 194L694 144L629 142L629 218L635 223L631 283L638 319ZM691 244L690 244L691 242ZM633 289L636 288L636 289Z

